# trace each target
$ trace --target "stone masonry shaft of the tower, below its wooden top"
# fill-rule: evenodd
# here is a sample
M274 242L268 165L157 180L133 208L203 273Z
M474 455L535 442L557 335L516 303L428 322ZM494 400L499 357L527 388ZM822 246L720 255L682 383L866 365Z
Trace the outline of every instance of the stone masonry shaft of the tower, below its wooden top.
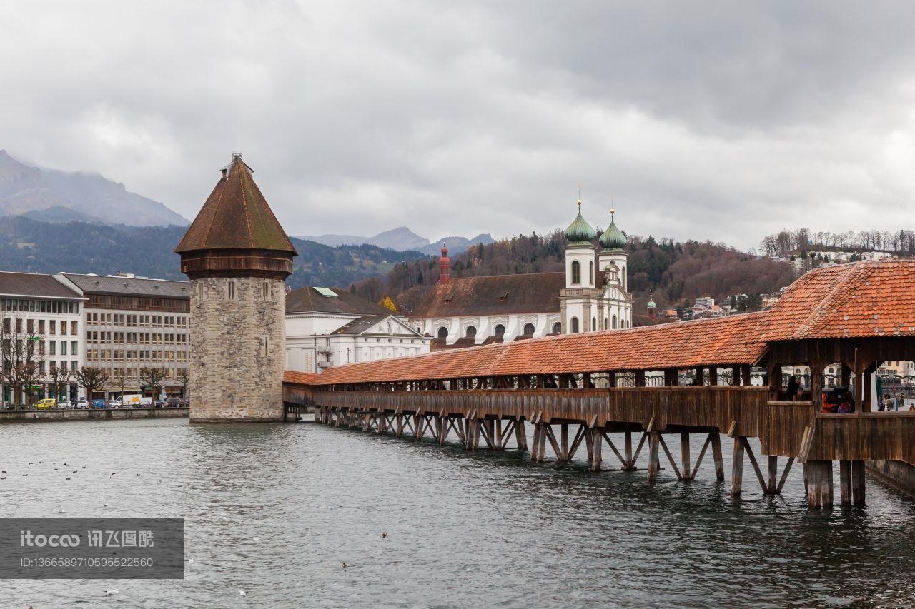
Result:
M211 277L191 287L191 422L282 421L285 282Z

